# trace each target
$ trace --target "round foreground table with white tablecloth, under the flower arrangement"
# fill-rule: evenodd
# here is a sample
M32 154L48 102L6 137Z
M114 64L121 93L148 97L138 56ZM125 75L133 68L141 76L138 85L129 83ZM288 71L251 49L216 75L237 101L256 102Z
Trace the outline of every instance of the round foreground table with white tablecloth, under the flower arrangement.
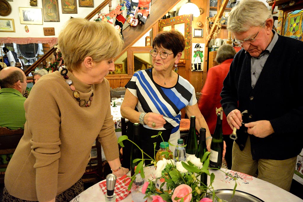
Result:
M152 178L153 171L155 171L155 167L153 166L145 168L145 180ZM220 170L209 169L209 171L210 173L215 174L215 180L212 183L214 190L233 189L236 183L237 191L248 193L265 202L303 202L301 198L274 184L244 173L223 168ZM208 182L209 180L210 176L208 176ZM70 202L105 202L105 195L103 194L99 183L87 188ZM128 194L120 201L132 202L132 195ZM151 202L152 199L148 197L147 201Z

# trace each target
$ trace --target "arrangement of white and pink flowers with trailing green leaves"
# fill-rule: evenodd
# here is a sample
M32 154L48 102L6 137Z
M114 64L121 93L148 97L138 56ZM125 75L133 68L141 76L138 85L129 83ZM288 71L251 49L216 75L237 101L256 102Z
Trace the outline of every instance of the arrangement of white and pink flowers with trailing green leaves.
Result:
M159 132L158 135L152 137L158 137L159 135L161 136L161 132ZM126 135L122 135L118 138L118 143L122 147L124 147L122 143L122 141L124 140L131 141ZM135 144L134 142L132 143ZM171 143L169 144L172 145ZM136 146L138 147L138 145ZM219 202L222 201L215 195L215 190L212 187L212 183L215 179L215 174L210 174L209 169L217 168L208 167L210 152L207 151L202 159L197 158L195 156L189 156L187 157L186 161L177 161L176 163L173 159L163 159L156 162L155 158L151 158L149 156L148 157L150 159L143 159L143 154L146 153L140 147L138 148L142 152L142 159L135 159L133 161L140 162L136 167L135 174L131 177L132 181L129 184L128 190L131 189L132 183L135 180L136 174L138 174L139 171L141 177L144 179L145 175L143 168L155 165L156 170L154 172L154 179L148 180L144 183L142 187L142 193L145 194L145 197L152 197L152 202L212 202L215 199ZM169 154L171 154L171 152L169 151L161 153L161 155L166 155L166 157L168 157ZM151 163L143 166L144 162L148 162L149 160ZM201 174L207 174L210 176L210 181L208 185L203 184L200 181ZM227 173L226 175L230 176ZM160 178L164 179L165 182L161 184L160 190L157 190L155 180ZM167 188L166 190L163 189L165 185ZM237 184L235 183L233 195L235 194L236 187ZM212 199L208 198L210 196L212 196Z

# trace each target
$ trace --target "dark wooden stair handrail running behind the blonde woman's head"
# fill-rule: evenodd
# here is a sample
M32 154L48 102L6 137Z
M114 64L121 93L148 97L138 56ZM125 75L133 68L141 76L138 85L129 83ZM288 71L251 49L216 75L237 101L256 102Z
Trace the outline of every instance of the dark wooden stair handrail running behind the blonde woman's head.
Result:
M110 4L111 5L112 0L104 0L99 6L97 6L90 14L88 14L85 19L92 19L92 17L94 17L98 12L100 12L100 10L102 10L106 5ZM57 45L57 44L56 44ZM55 45L54 45L55 46ZM42 63L42 61L44 61L46 58L48 58L48 56L50 56L51 54L54 53L54 51L56 50L54 48L54 46L52 48L50 48L48 51L46 51L44 53L44 55L42 55L37 61L35 61L34 64L32 64L29 68L27 68L24 73L25 75L28 75L32 70L34 70L36 67L38 67L38 65L40 63Z

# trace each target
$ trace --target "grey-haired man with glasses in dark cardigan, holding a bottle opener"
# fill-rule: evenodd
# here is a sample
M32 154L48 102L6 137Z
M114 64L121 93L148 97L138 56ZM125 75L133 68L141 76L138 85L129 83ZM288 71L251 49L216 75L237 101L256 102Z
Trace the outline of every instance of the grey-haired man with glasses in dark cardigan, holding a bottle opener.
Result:
M237 129L232 170L290 190L303 136L303 42L278 35L263 2L243 0L228 17L228 31L243 47L223 82L221 104ZM248 113L241 115L241 112Z

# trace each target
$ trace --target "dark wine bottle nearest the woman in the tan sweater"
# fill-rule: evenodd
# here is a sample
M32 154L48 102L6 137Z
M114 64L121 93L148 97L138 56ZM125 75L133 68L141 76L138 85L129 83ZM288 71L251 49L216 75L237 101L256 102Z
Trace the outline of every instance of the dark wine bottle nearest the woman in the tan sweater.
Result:
M133 142L140 147L140 145L139 145L139 143L140 143L139 133L140 133L140 125L138 123L134 123ZM140 161L137 161L137 162L133 163L133 161L137 158L142 158L142 153L135 144L132 144L132 147L131 147L131 156L130 156L130 158L131 158L131 176L133 176L135 174L135 167L140 162Z

